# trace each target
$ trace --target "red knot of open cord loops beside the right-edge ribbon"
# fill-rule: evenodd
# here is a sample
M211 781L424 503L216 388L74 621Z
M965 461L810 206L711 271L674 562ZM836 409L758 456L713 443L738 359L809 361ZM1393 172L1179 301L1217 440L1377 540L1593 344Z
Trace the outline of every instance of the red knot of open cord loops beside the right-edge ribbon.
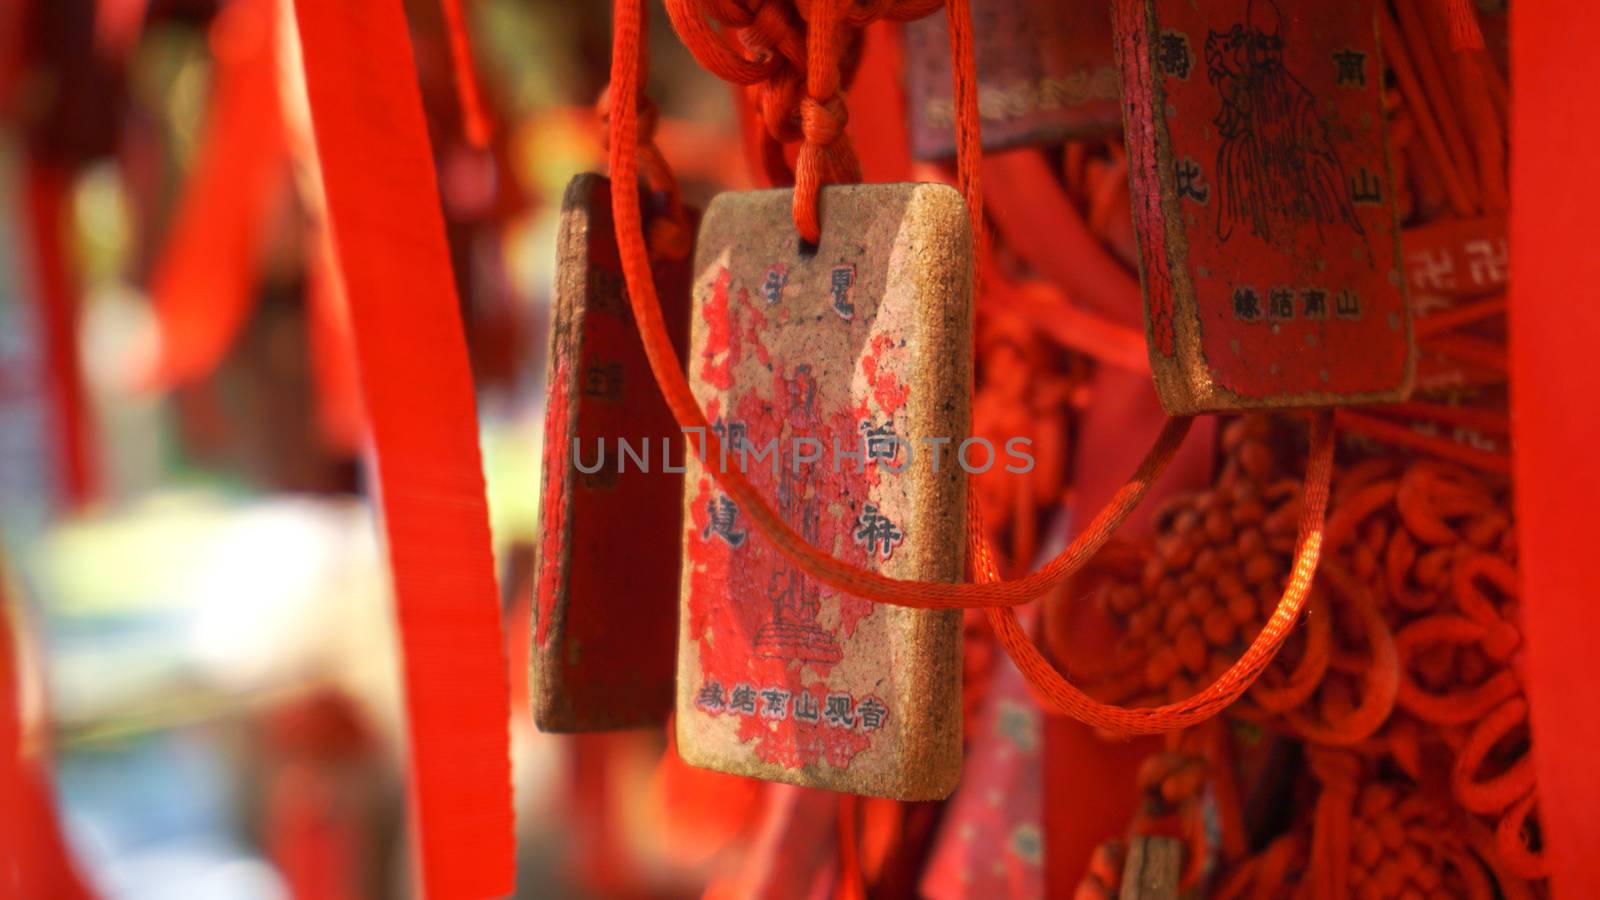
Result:
M1429 746L1454 754L1451 793L1494 822L1477 852L1502 881L1544 876L1507 500L1493 476L1370 460L1341 479L1328 528L1331 556L1381 599L1395 629L1398 713L1387 751L1413 777Z

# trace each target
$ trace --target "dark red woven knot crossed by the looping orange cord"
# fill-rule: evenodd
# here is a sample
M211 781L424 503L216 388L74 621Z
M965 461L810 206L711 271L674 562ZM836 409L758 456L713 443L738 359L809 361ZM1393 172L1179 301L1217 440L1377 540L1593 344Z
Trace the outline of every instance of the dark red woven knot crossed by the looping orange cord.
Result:
M1157 511L1141 577L1101 594L1125 626L1101 695L1144 703L1184 697L1237 658L1274 613L1301 503L1299 482L1274 448L1285 437L1266 416L1229 423L1216 484ZM1397 668L1376 599L1355 578L1323 573L1304 623L1232 714L1277 717L1323 743L1355 743L1387 719Z

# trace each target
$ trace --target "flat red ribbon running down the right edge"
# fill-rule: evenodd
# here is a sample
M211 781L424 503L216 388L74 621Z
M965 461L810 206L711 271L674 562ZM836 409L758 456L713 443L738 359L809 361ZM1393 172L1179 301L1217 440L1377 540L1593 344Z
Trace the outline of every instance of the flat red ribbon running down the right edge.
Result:
M1586 0L1512 5L1510 282L1517 544L1533 759L1544 855L1557 897L1600 897L1600 184L1573 165L1600 141L1590 72L1600 8Z

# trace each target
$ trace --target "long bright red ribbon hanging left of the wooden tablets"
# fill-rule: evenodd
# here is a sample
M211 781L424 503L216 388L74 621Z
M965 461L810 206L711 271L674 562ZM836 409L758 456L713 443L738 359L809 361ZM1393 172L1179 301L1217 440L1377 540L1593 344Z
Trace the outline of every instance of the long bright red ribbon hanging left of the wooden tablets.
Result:
M296 0L405 653L427 897L514 886L510 700L477 415L398 0Z

